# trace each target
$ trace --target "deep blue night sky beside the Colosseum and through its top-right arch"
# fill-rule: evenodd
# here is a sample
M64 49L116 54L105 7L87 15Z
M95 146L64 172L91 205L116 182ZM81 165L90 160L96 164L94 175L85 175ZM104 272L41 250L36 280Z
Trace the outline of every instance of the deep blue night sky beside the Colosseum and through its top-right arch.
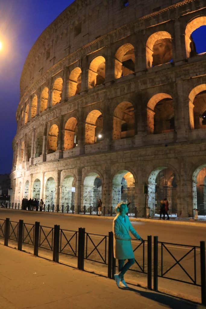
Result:
M74 0L2 0L0 2L0 174L10 173L19 81L27 54L44 29ZM193 34L197 52L206 51L206 26ZM203 39L204 38L204 39ZM196 43L196 42L195 42ZM204 44L204 45L203 45Z

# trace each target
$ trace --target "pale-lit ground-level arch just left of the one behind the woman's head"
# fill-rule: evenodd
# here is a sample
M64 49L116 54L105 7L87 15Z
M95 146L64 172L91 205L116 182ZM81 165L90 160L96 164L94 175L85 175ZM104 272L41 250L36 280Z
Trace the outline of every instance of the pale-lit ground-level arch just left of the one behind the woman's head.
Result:
M97 213L99 199L102 199L102 180L95 172L90 172L84 179L83 184L83 206L86 206L86 212Z

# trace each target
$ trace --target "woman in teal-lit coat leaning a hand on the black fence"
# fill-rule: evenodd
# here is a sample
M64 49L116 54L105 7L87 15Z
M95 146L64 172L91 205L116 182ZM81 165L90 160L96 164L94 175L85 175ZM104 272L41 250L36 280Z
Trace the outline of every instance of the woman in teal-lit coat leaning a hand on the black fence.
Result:
M127 284L124 281L124 274L135 263L134 252L132 249L131 236L129 231L138 240L142 240L140 235L137 234L133 228L128 216L128 206L125 203L119 203L116 206L116 217L113 220L113 233L114 233L114 257L118 259L118 271L119 273L114 275L116 285L127 288ZM128 262L124 265L125 260Z

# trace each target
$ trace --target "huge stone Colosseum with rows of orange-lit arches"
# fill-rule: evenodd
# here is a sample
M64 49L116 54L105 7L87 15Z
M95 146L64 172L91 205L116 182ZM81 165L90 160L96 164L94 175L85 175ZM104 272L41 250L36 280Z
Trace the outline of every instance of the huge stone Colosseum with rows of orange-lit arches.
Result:
M170 214L206 214L204 27L203 0L74 1L23 67L11 202L97 214L101 199L112 215L125 201L142 217L167 198Z

